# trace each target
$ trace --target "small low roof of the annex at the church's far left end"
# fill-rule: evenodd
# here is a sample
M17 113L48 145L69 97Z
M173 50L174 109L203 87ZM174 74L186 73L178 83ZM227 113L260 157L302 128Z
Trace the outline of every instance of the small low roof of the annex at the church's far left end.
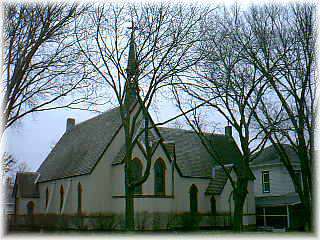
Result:
M19 193L21 197L25 198L38 198L39 189L36 184L36 180L39 177L39 173L35 172L19 172L16 175L16 181L14 184L13 195L17 193L19 188Z

